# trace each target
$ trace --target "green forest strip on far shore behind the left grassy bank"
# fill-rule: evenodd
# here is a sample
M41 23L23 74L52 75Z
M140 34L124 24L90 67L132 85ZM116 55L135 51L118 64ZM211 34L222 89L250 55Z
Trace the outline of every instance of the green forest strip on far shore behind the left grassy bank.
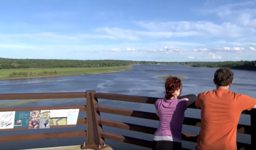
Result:
M58 59L7 59L0 58L0 69L19 68L91 68L131 65L175 64L175 62L129 60L58 60Z

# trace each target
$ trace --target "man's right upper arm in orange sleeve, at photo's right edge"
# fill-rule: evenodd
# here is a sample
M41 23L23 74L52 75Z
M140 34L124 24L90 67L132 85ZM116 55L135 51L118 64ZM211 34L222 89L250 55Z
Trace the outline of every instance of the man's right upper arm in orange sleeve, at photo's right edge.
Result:
M256 99L251 98L250 96L244 94L237 95L237 107L244 110L251 110L252 108L256 109Z

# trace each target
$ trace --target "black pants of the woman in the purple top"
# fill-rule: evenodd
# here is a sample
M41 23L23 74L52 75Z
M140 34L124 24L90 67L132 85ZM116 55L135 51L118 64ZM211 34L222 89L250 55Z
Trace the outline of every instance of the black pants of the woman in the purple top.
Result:
M181 150L181 143L170 140L153 140L152 150Z

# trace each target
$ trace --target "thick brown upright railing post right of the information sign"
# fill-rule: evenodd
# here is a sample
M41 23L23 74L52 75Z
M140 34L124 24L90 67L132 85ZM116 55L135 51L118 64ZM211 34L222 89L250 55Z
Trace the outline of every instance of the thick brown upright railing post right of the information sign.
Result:
M99 125L100 112L96 111L98 100L94 98L96 91L86 91L86 145L81 149L102 149L107 147L101 138L102 126Z

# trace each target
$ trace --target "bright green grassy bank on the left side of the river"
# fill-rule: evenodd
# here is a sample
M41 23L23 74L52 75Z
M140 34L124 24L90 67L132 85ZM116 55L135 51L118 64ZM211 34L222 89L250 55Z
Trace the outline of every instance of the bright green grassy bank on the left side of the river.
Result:
M82 74L101 74L121 72L131 69L131 66L118 67L92 67L92 68L26 68L26 69L0 69L0 80L19 78L73 76Z

